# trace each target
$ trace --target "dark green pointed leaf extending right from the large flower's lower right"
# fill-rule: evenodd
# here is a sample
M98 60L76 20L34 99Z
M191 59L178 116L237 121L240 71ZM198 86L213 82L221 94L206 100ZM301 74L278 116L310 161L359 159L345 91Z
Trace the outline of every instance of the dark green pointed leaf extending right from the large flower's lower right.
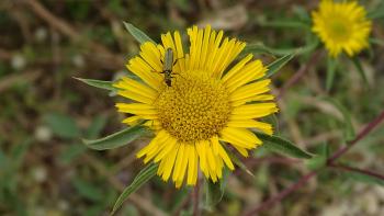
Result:
M284 154L294 158L310 159L312 154L306 152L305 150L300 149L291 141L283 139L278 136L270 136L260 132L253 132L260 139L264 141L264 147L269 150Z

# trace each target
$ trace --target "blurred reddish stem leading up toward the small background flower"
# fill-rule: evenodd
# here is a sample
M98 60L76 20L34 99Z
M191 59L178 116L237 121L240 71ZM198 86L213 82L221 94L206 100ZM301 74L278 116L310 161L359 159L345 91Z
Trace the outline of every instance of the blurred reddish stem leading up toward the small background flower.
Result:
M317 60L318 58L321 56L321 52L318 50L318 52L315 52L312 54L309 60L304 64L298 70L297 72L295 72L291 79L289 79L285 84L280 89L280 93L278 94L276 96L276 100L281 99L284 93L286 92L286 90L289 88L291 88L293 84L295 84L307 71L308 69L310 68L310 66L313 66Z

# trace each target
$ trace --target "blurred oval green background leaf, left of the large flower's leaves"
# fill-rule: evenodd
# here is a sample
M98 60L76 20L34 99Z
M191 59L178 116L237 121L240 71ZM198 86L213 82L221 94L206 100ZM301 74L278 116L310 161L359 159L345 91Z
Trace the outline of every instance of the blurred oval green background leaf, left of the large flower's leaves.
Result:
M50 113L45 115L43 121L60 138L72 139L80 136L80 129L75 120L66 114Z

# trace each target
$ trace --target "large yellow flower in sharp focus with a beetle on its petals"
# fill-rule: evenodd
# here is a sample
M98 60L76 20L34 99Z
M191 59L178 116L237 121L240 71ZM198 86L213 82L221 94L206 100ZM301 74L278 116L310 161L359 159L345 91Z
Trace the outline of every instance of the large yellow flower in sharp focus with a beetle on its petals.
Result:
M185 183L194 185L199 167L213 182L223 177L224 164L234 170L226 147L230 145L247 157L248 150L262 143L249 129L272 134L270 124L255 118L278 111L260 60L248 55L229 67L245 43L223 39L223 31L211 26L193 26L188 35L189 54L184 54L179 32L173 37L161 35L162 45L144 43L139 56L127 65L142 81L124 77L115 84L120 95L135 101L116 104L118 112L133 114L123 123L135 125L146 120L156 134L137 157L145 156L145 163L159 163L157 174L165 181L171 178L177 187L185 175ZM176 62L171 86L160 73L168 48Z

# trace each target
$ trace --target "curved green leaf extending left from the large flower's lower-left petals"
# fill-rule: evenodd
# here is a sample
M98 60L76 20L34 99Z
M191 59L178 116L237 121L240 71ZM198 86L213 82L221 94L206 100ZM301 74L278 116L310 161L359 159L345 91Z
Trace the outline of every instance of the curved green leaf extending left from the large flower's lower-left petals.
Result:
M106 150L127 145L146 134L148 134L146 127L135 125L100 139L82 139L82 141L88 148L94 150Z

